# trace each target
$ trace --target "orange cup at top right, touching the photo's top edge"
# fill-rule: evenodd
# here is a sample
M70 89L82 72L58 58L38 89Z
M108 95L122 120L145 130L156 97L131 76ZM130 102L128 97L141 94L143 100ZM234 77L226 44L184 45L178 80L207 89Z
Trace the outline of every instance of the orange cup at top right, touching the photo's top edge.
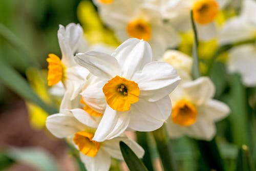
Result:
M193 17L199 24L211 23L217 16L219 5L215 0L198 0L193 6Z

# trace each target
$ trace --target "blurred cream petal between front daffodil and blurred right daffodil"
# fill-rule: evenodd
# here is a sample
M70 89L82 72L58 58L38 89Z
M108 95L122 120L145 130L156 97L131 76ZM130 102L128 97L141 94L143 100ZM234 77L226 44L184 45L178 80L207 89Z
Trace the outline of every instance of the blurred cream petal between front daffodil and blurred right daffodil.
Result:
M182 84L186 98L201 105L215 94L215 87L208 77L200 77L194 81L188 81Z

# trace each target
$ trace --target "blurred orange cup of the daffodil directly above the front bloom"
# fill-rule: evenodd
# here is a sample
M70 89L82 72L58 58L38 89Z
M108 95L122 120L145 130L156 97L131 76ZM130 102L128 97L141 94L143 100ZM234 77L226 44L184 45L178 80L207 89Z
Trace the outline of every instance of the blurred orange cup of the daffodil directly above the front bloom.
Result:
M143 38L145 41L151 38L151 26L143 19L136 19L130 22L126 31L130 37Z

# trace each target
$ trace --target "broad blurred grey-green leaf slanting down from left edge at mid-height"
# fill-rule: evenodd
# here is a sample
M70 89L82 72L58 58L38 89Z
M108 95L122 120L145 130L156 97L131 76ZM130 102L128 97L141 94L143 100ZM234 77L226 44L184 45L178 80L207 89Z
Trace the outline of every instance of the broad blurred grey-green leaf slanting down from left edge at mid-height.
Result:
M19 96L39 105L49 114L58 111L42 101L30 88L28 82L0 57L0 81Z

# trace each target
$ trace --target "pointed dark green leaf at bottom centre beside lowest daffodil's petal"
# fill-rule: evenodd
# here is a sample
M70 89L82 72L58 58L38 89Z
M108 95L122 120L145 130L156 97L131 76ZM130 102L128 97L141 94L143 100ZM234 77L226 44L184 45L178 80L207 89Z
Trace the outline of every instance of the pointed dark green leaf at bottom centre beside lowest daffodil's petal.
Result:
M142 161L135 155L135 153L132 151L132 149L128 145L126 145L122 141L119 142L119 145L120 145L120 149L121 149L124 161L126 162L130 170L133 170L133 171L147 170L147 168L142 163Z

